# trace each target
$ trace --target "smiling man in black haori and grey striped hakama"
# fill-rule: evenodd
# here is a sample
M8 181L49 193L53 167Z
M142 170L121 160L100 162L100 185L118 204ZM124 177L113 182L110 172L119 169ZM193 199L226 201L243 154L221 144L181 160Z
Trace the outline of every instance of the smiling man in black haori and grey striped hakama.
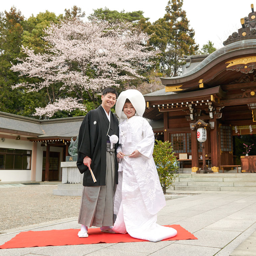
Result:
M111 112L117 100L117 91L106 88L101 95L102 103L85 116L78 136L77 167L83 178L83 195L78 223L82 225L78 237L88 237L88 227L100 227L103 232L113 233L116 215L113 213L117 175L117 145L110 147L109 136L119 136L118 119ZM93 180L93 175L96 179Z

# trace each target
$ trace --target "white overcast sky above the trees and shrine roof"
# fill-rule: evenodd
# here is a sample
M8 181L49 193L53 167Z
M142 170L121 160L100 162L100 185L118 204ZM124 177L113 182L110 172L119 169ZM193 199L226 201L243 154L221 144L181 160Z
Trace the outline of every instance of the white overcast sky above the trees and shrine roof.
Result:
M167 3L168 0L2 0L0 11L9 11L11 6L15 6L29 18L32 13L36 15L45 10L59 15L64 13L65 8L71 9L73 5L81 7L86 15L92 13L93 9L107 7L117 11L142 10L144 16L154 22L163 17ZM195 30L195 40L200 48L208 40L220 48L230 34L242 27L240 19L248 16L252 3L256 10L256 0L184 0L183 9L187 13L190 27Z

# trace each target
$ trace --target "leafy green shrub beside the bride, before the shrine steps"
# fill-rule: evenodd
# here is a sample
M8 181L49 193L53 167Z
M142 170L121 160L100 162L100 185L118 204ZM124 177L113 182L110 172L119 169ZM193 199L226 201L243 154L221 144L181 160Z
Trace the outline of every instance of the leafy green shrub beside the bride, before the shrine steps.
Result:
M153 157L160 183L165 194L166 188L170 185L174 186L175 178L178 176L178 174L176 174L178 163L174 156L174 152L172 152L171 142L168 140L165 142L156 140Z

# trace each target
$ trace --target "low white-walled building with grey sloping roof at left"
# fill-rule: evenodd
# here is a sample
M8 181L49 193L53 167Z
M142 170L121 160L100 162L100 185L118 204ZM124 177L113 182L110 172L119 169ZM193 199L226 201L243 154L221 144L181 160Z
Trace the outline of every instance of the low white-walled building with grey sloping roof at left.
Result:
M37 120L0 112L1 183L61 180L60 163L83 119Z

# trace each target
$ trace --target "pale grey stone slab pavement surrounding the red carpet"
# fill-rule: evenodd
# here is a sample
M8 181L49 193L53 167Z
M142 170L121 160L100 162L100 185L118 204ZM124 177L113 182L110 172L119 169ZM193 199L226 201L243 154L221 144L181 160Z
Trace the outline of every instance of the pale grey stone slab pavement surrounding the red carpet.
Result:
M178 193L181 191L175 191ZM184 192L184 191L183 191ZM189 193L190 191L186 191ZM192 192L192 191L191 191ZM158 224L180 224L198 240L138 242L1 249L1 256L251 256L256 255L256 192L193 191L198 193L168 200L158 213ZM79 229L74 218L8 230L5 243L20 231ZM81 238L86 239L86 238ZM253 243L252 243L253 241ZM237 247L237 248L236 248Z

